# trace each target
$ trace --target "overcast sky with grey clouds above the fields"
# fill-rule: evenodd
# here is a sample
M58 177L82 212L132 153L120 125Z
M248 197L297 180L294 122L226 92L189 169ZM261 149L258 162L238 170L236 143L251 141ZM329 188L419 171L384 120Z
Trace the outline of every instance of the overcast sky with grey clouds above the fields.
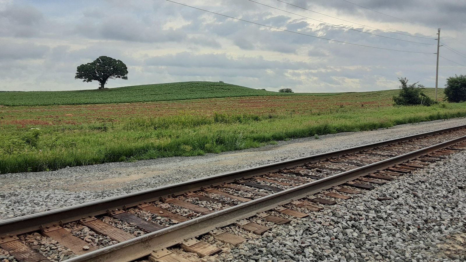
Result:
M96 89L97 82L83 83L74 76L78 65L100 55L128 66L128 80L109 80L110 88L221 80L274 91L369 91L396 89L397 77L434 87L437 28L443 43L466 54L461 44L466 41L465 0L351 0L424 26L344 0L283 1L351 22L278 0L255 0L270 7L249 0L174 1L301 34L166 0L0 0L0 90ZM466 55L444 47L440 55L466 65ZM448 76L466 74L465 69L440 58L439 87Z

